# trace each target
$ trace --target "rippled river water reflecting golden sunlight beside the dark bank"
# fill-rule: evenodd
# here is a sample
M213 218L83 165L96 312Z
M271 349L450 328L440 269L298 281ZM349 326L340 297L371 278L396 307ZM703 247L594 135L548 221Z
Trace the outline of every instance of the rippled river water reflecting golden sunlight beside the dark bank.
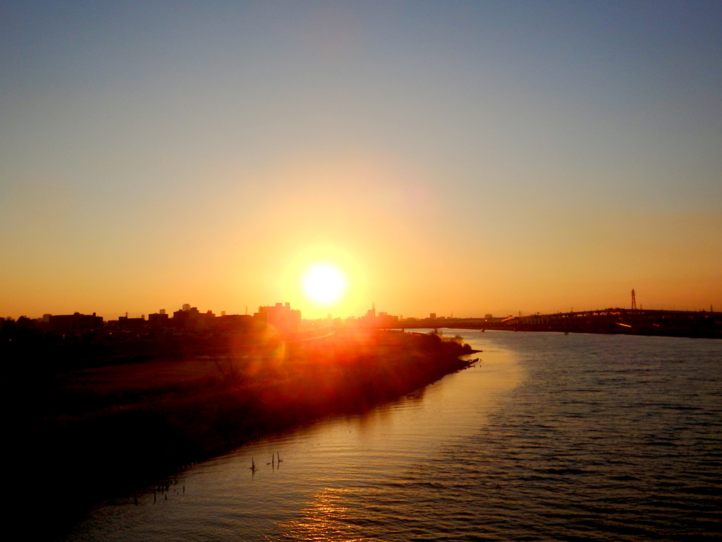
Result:
M444 332L479 362L193 465L168 491L96 507L65 539L720 536L722 341Z

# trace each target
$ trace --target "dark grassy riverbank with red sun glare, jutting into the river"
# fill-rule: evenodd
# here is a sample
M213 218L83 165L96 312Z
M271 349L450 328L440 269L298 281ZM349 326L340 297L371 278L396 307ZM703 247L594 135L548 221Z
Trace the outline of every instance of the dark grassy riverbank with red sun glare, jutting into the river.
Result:
M59 527L183 465L318 418L359 413L468 364L435 335L355 332L6 382L10 460L25 502L52 491ZM49 485L49 487L48 487ZM58 502L59 499L59 502Z

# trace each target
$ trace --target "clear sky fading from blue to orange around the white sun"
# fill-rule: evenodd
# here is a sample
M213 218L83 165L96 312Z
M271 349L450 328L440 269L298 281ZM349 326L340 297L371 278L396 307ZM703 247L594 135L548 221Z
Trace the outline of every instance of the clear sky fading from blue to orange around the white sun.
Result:
M0 1L0 231L2 317L722 310L722 3Z

